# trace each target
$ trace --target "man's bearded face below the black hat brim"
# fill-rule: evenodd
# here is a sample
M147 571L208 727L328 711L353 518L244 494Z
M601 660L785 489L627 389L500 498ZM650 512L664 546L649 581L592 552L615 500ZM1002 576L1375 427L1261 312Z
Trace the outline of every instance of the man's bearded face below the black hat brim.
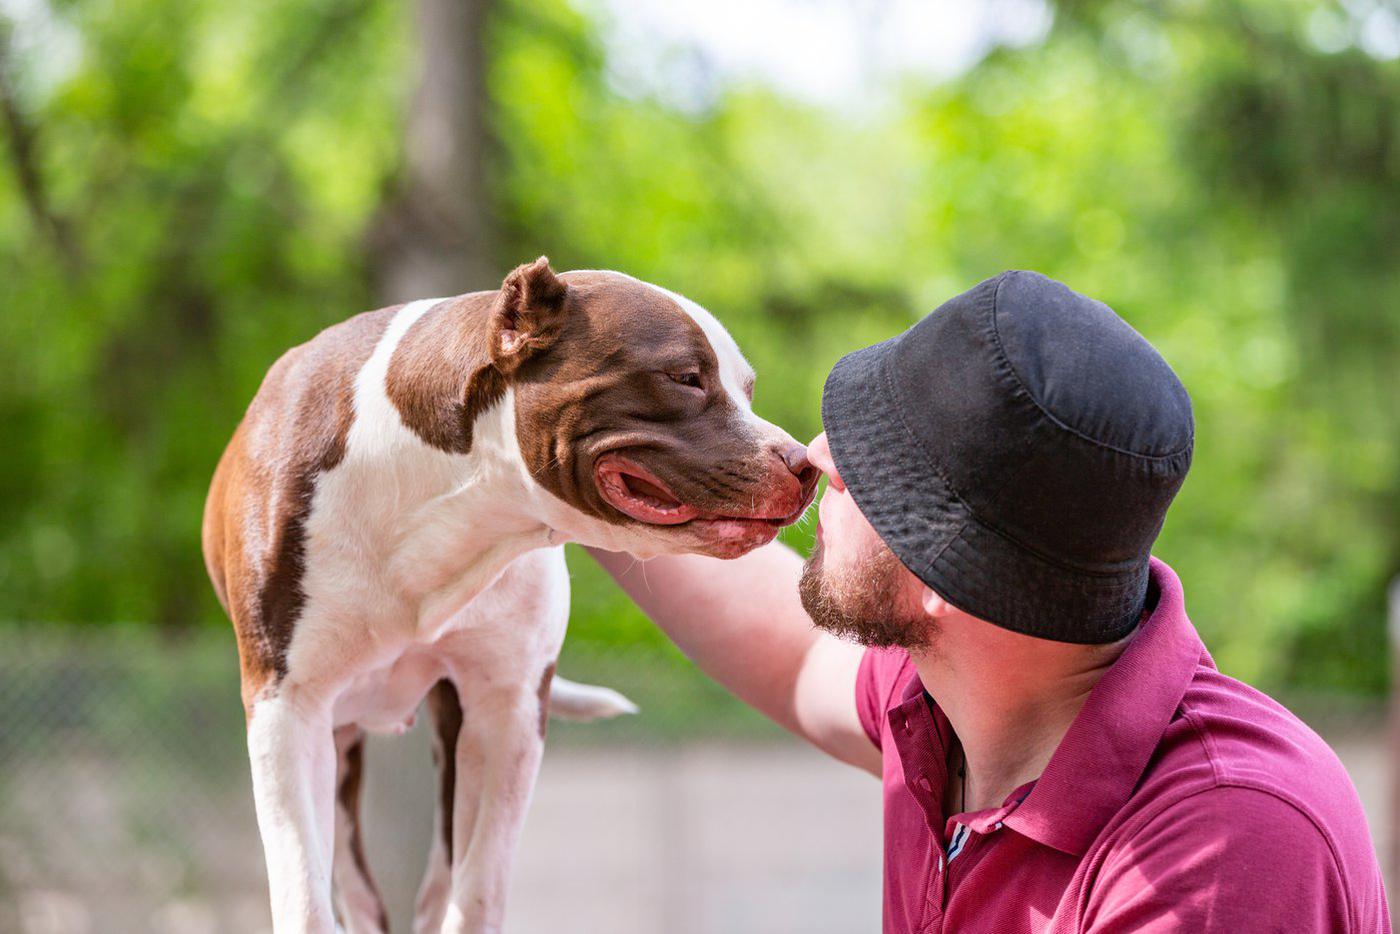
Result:
M862 646L927 648L932 620L921 584L879 538L841 483L826 433L806 449L827 479L818 507L816 545L802 566L802 606L820 629Z

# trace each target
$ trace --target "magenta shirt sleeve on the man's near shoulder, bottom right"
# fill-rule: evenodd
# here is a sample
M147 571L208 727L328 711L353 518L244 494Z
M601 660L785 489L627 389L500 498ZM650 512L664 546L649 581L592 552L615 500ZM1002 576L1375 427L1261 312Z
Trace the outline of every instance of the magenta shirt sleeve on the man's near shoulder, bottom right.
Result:
M1112 847L1084 930L1341 933L1352 930L1347 903L1331 846L1306 814L1267 791L1217 787Z

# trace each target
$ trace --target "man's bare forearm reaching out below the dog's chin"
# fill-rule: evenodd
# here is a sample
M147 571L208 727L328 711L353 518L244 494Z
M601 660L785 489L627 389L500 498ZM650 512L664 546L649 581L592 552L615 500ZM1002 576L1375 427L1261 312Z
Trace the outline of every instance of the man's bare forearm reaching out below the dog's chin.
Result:
M589 549L638 606L711 678L794 732L794 695L818 632L802 611L802 559L774 542L721 562L638 562Z

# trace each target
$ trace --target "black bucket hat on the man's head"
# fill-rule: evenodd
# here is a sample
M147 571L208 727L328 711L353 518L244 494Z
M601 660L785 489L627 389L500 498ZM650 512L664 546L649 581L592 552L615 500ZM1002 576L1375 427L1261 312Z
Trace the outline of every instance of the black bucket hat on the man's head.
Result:
M1109 643L1191 463L1191 400L1103 302L1008 272L843 357L822 421L889 549L953 606Z

